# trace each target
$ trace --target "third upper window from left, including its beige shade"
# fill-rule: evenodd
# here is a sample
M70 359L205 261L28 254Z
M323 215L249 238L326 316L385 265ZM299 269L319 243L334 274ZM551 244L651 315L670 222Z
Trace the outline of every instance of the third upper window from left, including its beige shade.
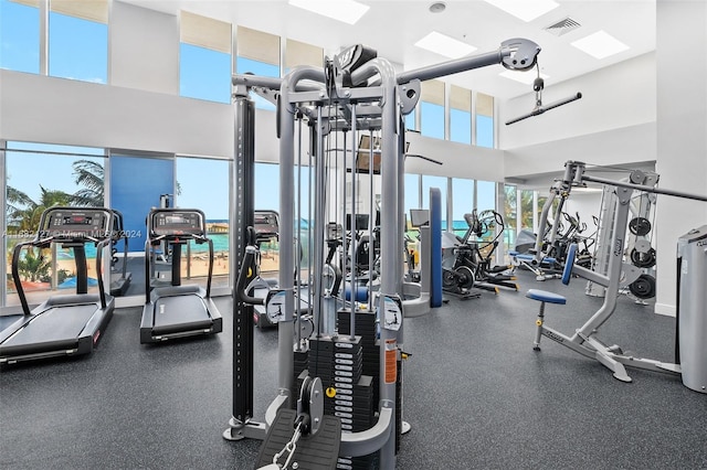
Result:
M179 94L231 103L231 23L181 12Z

